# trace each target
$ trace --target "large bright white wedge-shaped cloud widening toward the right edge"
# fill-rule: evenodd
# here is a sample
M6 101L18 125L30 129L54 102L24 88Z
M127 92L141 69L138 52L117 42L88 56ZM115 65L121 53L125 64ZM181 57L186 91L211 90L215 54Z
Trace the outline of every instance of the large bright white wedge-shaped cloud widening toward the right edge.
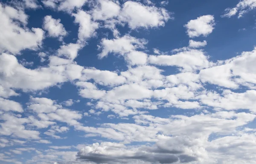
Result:
M218 66L203 69L199 73L201 81L233 89L238 88L239 85L254 89L256 84L256 70L253 66L256 61L255 54L256 49L251 52L242 52L239 56L220 61Z

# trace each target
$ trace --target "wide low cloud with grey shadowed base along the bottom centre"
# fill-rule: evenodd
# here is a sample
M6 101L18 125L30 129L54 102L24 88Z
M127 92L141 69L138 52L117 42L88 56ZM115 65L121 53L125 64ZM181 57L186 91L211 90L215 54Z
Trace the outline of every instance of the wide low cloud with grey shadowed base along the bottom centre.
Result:
M78 157L81 161L93 161L97 164L103 163L124 163L125 161L147 161L151 163L171 164L179 160L195 161L195 158L186 155L179 157L166 152L166 154L159 154L156 152L148 152L148 147L127 148L123 144L105 142L101 144L93 144L91 147L87 146L79 151ZM151 150L152 151L152 150ZM186 158L186 159L182 159Z

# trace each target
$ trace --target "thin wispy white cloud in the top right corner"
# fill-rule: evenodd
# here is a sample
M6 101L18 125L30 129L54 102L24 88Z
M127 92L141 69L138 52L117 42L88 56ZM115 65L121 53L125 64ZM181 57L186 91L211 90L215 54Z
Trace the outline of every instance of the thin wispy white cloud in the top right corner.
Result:
M225 14L221 17L232 17L238 13L238 18L240 18L254 8L256 8L256 0L241 0L236 7L225 9Z

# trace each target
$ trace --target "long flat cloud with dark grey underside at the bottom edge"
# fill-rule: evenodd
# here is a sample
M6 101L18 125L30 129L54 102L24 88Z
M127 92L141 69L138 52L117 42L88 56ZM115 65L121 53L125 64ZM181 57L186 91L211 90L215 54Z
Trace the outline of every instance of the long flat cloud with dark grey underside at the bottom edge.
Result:
M169 142L167 140L166 142ZM173 143L173 141L168 144ZM144 161L151 164L172 164L180 161L180 163L188 163L197 161L196 157L184 154L183 145L161 146L164 143L155 144L153 146L138 147L109 147L106 145L98 147L87 147L77 154L79 161L95 162L96 164L130 164L135 161ZM176 148L175 148L176 147Z

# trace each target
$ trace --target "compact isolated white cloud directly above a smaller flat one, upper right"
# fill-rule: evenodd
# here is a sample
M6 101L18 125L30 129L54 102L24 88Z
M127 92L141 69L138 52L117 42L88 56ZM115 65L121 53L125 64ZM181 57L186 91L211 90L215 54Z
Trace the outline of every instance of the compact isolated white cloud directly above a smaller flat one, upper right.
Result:
M215 26L215 20L212 15L204 15L195 20L189 20L189 22L184 25L189 37L199 37L201 35L206 37L212 33L214 29L213 26Z

